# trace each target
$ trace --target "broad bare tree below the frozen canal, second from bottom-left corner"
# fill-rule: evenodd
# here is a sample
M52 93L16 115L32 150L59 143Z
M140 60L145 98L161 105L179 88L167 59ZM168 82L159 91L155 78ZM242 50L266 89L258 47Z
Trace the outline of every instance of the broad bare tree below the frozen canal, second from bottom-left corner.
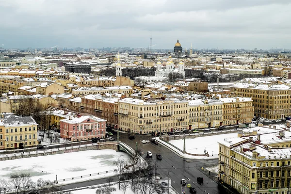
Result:
M16 194L25 194L25 192L32 188L33 182L30 174L21 173L21 174L12 174L10 179L14 187L16 188Z

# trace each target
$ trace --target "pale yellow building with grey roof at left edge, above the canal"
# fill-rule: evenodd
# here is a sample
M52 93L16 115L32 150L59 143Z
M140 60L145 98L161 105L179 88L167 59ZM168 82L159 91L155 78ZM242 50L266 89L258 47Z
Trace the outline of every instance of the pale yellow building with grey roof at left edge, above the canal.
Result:
M31 116L1 114L0 149L22 149L37 145L37 123Z

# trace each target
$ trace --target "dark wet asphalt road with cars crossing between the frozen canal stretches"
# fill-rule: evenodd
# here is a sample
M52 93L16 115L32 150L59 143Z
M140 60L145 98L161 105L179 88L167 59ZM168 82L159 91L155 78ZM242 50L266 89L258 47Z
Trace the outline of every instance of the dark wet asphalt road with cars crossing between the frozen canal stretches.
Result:
M117 139L115 131L113 132L113 138ZM142 144L142 140L150 140L153 136L151 135L135 135L134 140L128 139L128 133L119 133L119 141L126 143L128 146L133 149L136 148L136 142L138 144L138 149L141 149L144 152L143 157L146 159L146 152L151 151L153 158L149 159L151 165L155 166L156 163L156 154L159 153L162 155L162 160L157 160L157 176L162 178L167 178L169 172L169 178L172 179L172 186L181 193L181 178L187 180L187 184L191 184L197 190L197 194L226 194L226 191L223 188L220 188L218 184L213 181L211 178L207 177L202 171L202 167L216 165L216 160L194 160L194 159L183 159L180 158L177 154L169 150L168 148L162 145L155 145L153 143ZM196 182L197 177L203 177L204 183L199 185ZM113 181L117 181L117 177L113 177ZM107 183L106 178L96 179L81 183L74 183L71 185L63 186L64 189L73 189L77 187L85 187L91 185L97 185ZM186 188L186 194L189 194L189 189Z

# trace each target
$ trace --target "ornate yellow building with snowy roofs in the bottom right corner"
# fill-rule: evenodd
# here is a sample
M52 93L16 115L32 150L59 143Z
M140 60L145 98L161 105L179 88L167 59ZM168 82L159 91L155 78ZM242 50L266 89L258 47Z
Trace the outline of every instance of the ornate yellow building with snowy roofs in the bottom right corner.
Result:
M225 139L219 143L220 181L240 194L287 194L291 181L291 132Z

